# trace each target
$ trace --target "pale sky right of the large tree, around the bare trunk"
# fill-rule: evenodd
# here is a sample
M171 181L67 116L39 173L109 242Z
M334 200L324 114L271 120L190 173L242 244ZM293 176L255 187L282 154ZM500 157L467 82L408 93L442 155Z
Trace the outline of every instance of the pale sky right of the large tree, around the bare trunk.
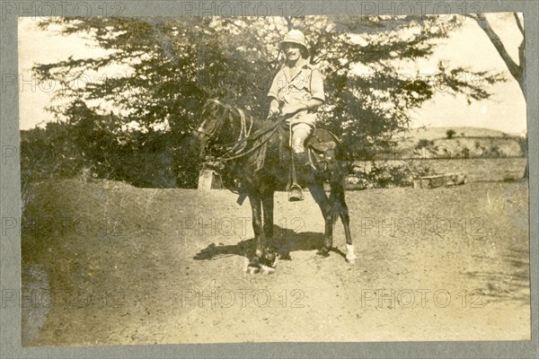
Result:
M508 54L518 63L518 45L522 39L512 13L488 16L494 31L499 35ZM475 71L503 72L508 79L491 87L493 95L487 101L473 101L468 105L464 95L457 98L440 93L427 101L412 115L414 127L485 127L512 134L526 132L526 101L517 81L508 73L507 66L479 28L477 22L468 19L450 39L437 48L434 58L445 58L452 66L469 66ZM430 65L433 65L430 62ZM422 66L422 64L420 65ZM424 66L429 73L429 65Z

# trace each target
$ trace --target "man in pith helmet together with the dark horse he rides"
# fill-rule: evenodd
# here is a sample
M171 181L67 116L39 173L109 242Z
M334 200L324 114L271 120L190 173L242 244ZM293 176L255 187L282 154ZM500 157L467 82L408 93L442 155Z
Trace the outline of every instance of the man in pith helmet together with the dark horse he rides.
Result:
M217 150L225 148L221 150L219 162L223 163L222 169L224 163L228 163L227 176L241 184L238 204L249 197L256 243L247 267L247 272L252 274L261 268L266 270L264 267L270 271L278 256L273 241L274 193L285 184L282 161L286 157L295 160L290 161L292 176L288 183L288 200L303 199L303 190L296 183L296 162L304 170L299 183L309 188L323 215L323 243L316 254L321 257L330 255L334 223L340 218L346 238L346 259L354 263L357 258L345 200L345 172L340 164L341 141L331 131L315 128L316 109L325 100L323 75L309 64L309 50L301 31L288 32L280 47L287 60L268 93L271 98L268 118L275 122L253 118L242 109L209 99L202 109L199 127L194 131L201 159L208 144L213 144ZM287 128L282 127L283 123L288 125ZM291 135L288 141L284 140L286 133ZM232 147L231 141L234 141ZM283 152L285 147L288 147L287 151ZM308 166L305 166L306 162ZM326 183L330 187L329 196ZM299 191L294 192L294 188Z

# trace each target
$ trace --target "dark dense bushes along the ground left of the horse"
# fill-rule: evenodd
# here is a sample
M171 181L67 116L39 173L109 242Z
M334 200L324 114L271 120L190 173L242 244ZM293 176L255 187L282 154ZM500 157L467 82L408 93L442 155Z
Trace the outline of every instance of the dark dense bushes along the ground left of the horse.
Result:
M75 102L65 122L21 131L22 186L37 180L120 180L136 187L195 188L198 158L190 137L172 131L116 133L113 115Z

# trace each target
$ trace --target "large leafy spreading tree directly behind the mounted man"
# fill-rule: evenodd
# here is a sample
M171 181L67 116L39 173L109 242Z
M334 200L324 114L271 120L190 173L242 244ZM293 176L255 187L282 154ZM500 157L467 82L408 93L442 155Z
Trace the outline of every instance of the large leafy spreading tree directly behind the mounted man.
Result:
M399 64L432 55L437 39L459 26L456 16L50 18L40 26L53 24L65 34L85 34L108 52L41 64L35 67L40 79L61 83L58 97L83 101L96 114L106 111L103 103L111 104L116 112L106 130L123 144L159 131L173 138L167 145L184 158L176 163L180 176L195 171L184 141L208 98L266 116L270 81L283 63L278 41L291 28L305 32L312 61L325 75L322 121L343 138L352 156L392 144L391 137L409 124L410 110L431 99L440 84L472 101L490 93L464 78L502 81L499 74L441 62L429 77L402 74ZM88 71L113 65L124 66L125 74L73 86ZM67 113L65 106L52 110ZM193 184L187 182L181 185Z

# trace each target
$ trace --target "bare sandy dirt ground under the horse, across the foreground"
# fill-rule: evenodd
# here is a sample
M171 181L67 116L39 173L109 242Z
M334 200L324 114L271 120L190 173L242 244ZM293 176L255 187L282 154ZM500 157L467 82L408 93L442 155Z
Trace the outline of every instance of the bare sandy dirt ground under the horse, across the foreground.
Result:
M349 191L317 258L314 200L276 195L273 274L245 274L228 191L34 184L22 223L25 346L530 338L527 183Z

